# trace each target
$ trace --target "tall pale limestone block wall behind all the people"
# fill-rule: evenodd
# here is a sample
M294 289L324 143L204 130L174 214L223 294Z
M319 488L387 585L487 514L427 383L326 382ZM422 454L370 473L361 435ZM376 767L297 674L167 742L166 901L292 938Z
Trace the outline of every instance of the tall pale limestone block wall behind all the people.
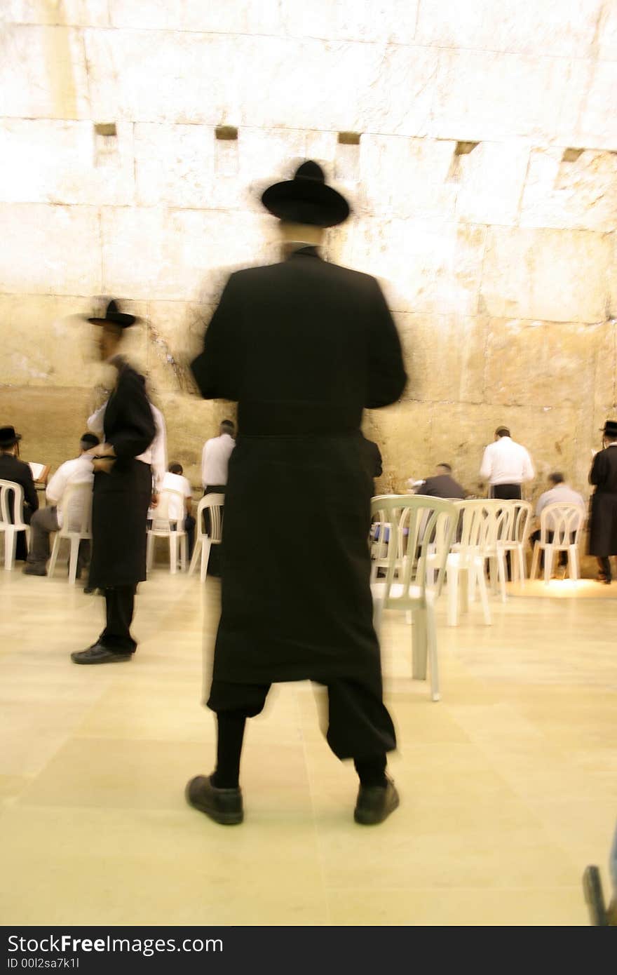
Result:
M616 0L3 0L0 21L0 419L26 459L65 459L100 401L72 316L112 294L147 320L132 353L199 483L230 408L186 362L226 271L276 259L260 190L312 157L354 207L327 255L380 276L405 345L403 401L366 414L379 489L440 460L477 489L507 423L534 494L556 467L587 490L617 409Z

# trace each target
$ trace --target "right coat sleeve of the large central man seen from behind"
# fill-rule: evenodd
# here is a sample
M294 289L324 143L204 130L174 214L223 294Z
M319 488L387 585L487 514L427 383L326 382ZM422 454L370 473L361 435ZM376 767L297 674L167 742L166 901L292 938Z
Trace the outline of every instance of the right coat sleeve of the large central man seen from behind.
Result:
M367 409L387 407L403 395L407 375L401 339L378 283L373 279L374 297L370 309L370 340L366 382Z

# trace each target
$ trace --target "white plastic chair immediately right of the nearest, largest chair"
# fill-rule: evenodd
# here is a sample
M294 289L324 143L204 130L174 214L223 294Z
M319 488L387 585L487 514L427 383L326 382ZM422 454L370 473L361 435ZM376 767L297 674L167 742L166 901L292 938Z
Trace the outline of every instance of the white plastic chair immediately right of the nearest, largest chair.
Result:
M447 625L456 626L458 623L459 592L461 609L467 611L469 602L473 600L476 584L480 589L484 623L490 626L490 609L484 577L484 561L487 553L492 552L489 542L496 536L494 514L486 501L473 499L468 501L454 501L460 524L460 541L452 545L445 563L445 578L447 582ZM460 576L460 586L459 586Z

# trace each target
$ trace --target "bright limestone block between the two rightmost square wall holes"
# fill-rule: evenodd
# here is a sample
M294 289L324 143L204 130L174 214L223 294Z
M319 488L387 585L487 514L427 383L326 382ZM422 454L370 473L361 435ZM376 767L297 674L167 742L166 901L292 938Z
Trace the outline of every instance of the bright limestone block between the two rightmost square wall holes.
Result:
M529 160L524 142L480 142L457 157L456 215L465 223L517 222Z

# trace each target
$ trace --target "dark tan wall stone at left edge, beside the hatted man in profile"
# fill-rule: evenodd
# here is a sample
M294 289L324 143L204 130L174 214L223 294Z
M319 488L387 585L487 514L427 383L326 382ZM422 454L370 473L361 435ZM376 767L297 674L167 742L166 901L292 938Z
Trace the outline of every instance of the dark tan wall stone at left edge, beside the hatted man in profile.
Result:
M85 388L0 386L0 416L21 434L21 460L50 464L52 472L77 454L93 408Z

